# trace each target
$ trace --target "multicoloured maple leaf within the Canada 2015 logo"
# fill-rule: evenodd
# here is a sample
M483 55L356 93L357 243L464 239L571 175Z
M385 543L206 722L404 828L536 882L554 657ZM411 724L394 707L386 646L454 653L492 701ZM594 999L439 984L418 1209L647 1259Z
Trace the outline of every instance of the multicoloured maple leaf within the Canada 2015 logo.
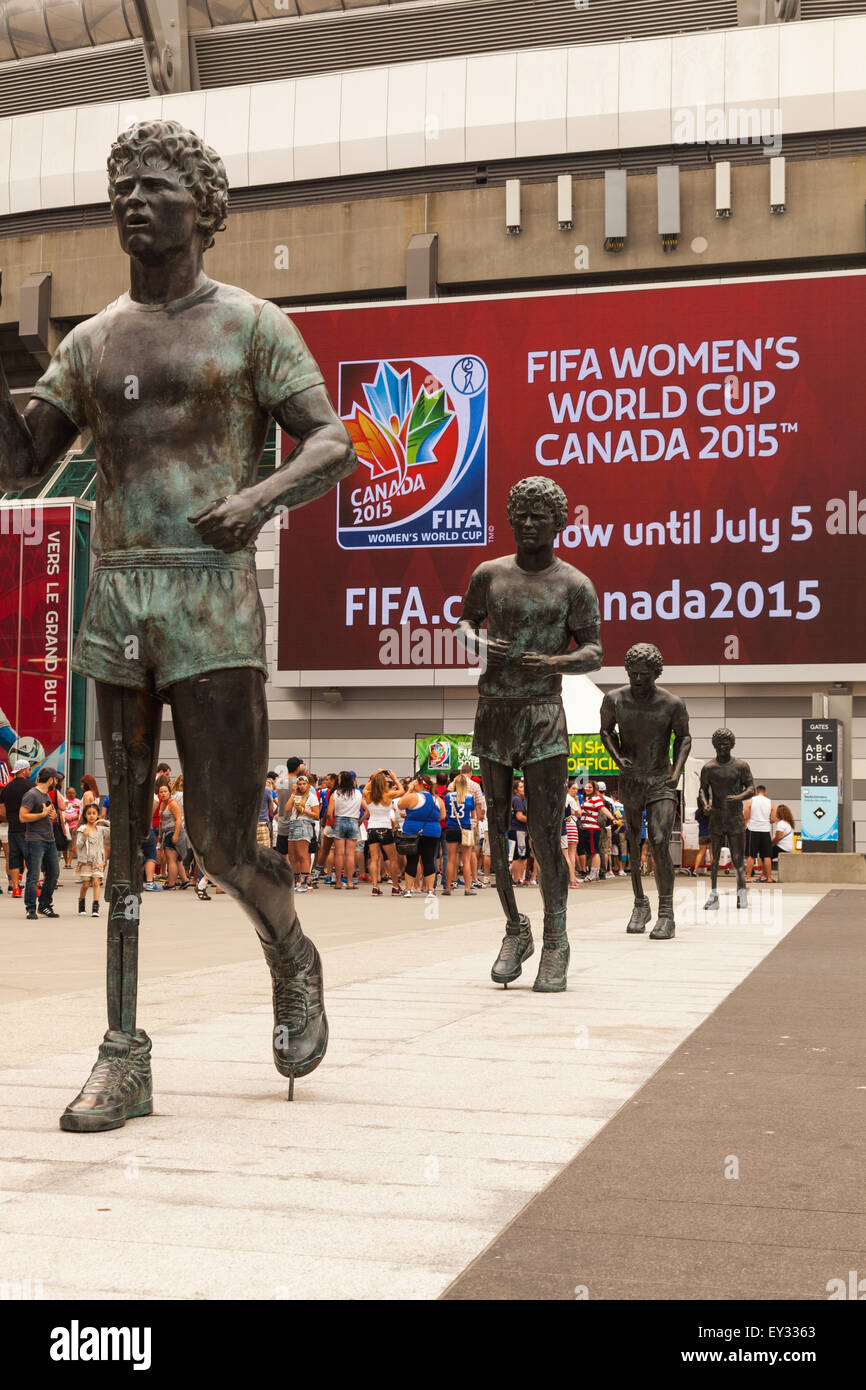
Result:
M364 396L368 409L356 402L345 424L371 478L396 473L402 486L409 468L436 463L434 446L455 418L445 403L445 388L430 392L421 386L413 400L411 373L381 361L373 385L364 384Z

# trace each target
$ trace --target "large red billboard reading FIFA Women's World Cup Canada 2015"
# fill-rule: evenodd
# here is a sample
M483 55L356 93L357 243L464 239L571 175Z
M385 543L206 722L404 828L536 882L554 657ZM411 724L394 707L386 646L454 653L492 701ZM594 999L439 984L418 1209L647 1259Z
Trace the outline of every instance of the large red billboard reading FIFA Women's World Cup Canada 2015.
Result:
M282 670L460 662L512 484L569 498L605 664L866 660L866 275L295 316L359 453L282 535Z

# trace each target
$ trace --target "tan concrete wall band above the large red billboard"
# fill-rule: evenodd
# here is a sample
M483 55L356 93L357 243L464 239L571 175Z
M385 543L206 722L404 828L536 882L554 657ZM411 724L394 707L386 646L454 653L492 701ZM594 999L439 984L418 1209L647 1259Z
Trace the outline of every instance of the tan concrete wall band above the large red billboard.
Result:
M556 181L524 183L523 234L505 229L505 188L368 197L229 213L228 227L206 257L215 279L242 285L264 299L302 303L399 292L406 282L406 249L414 232L439 235L439 284L489 285L545 277L702 271L737 263L808 261L866 253L863 204L866 156L788 161L788 211L770 213L769 160L733 168L734 214L714 214L714 172L684 170L680 179L683 235L662 252L656 224L655 174L628 179L628 240L614 256L603 250L601 178L574 183L574 229L556 222ZM706 243L706 245L705 245ZM588 260L575 271L575 247ZM126 257L113 225L46 231L0 240L0 321L18 317L21 282L50 270L51 317L78 320L97 313L128 288ZM286 257L281 247L288 247ZM695 249L698 247L698 249Z

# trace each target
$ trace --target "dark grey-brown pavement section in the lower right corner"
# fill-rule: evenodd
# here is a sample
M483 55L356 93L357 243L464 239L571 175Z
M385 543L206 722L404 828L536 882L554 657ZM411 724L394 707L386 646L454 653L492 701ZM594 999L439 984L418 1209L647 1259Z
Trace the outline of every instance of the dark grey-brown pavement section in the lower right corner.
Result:
M863 1268L865 920L823 898L445 1297L824 1298Z

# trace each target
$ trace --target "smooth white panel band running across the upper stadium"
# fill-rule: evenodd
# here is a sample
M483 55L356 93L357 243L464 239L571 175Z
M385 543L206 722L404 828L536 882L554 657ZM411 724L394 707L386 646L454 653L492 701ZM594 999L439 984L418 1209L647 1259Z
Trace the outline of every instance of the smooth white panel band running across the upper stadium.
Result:
M417 21L418 24L423 19ZM0 215L96 203L132 121L177 118L235 188L866 124L866 15L310 74L0 121ZM699 129L695 126L699 125ZM738 126L740 128L740 126Z

